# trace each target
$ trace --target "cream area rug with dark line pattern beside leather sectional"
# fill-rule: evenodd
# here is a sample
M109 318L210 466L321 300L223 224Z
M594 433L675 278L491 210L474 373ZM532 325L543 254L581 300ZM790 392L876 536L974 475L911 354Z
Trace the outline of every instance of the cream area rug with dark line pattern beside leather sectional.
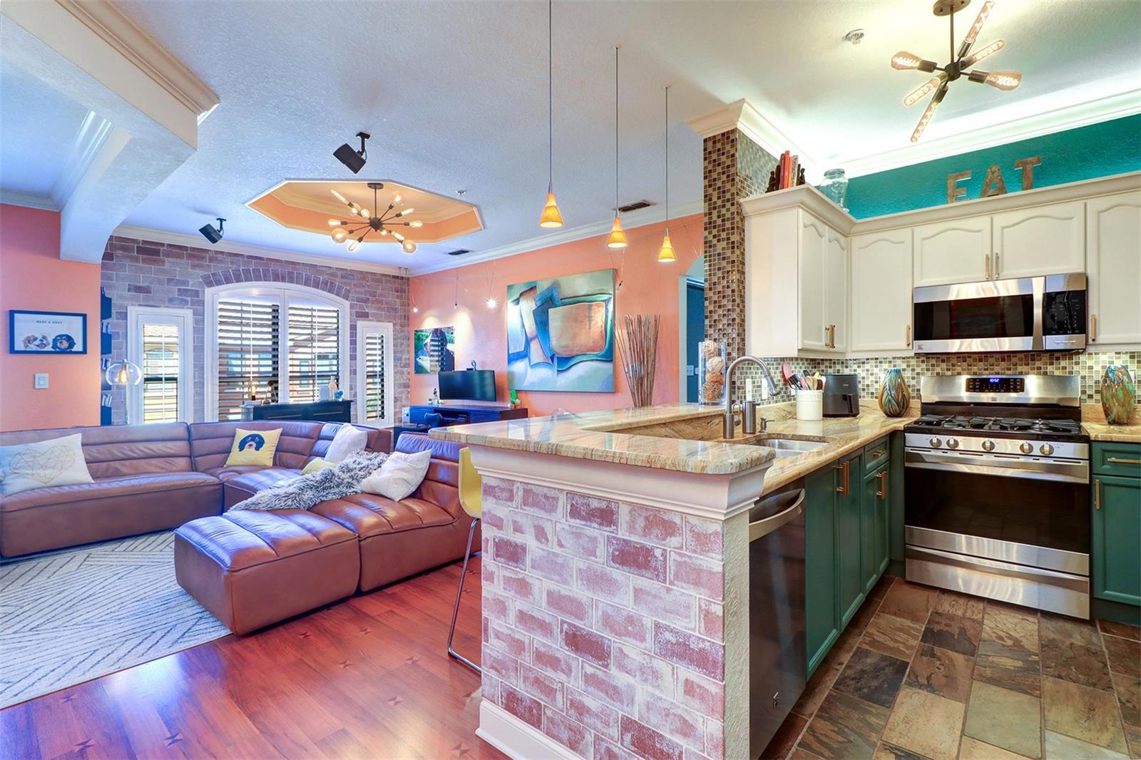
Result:
M0 708L226 636L175 582L175 534L0 564Z

